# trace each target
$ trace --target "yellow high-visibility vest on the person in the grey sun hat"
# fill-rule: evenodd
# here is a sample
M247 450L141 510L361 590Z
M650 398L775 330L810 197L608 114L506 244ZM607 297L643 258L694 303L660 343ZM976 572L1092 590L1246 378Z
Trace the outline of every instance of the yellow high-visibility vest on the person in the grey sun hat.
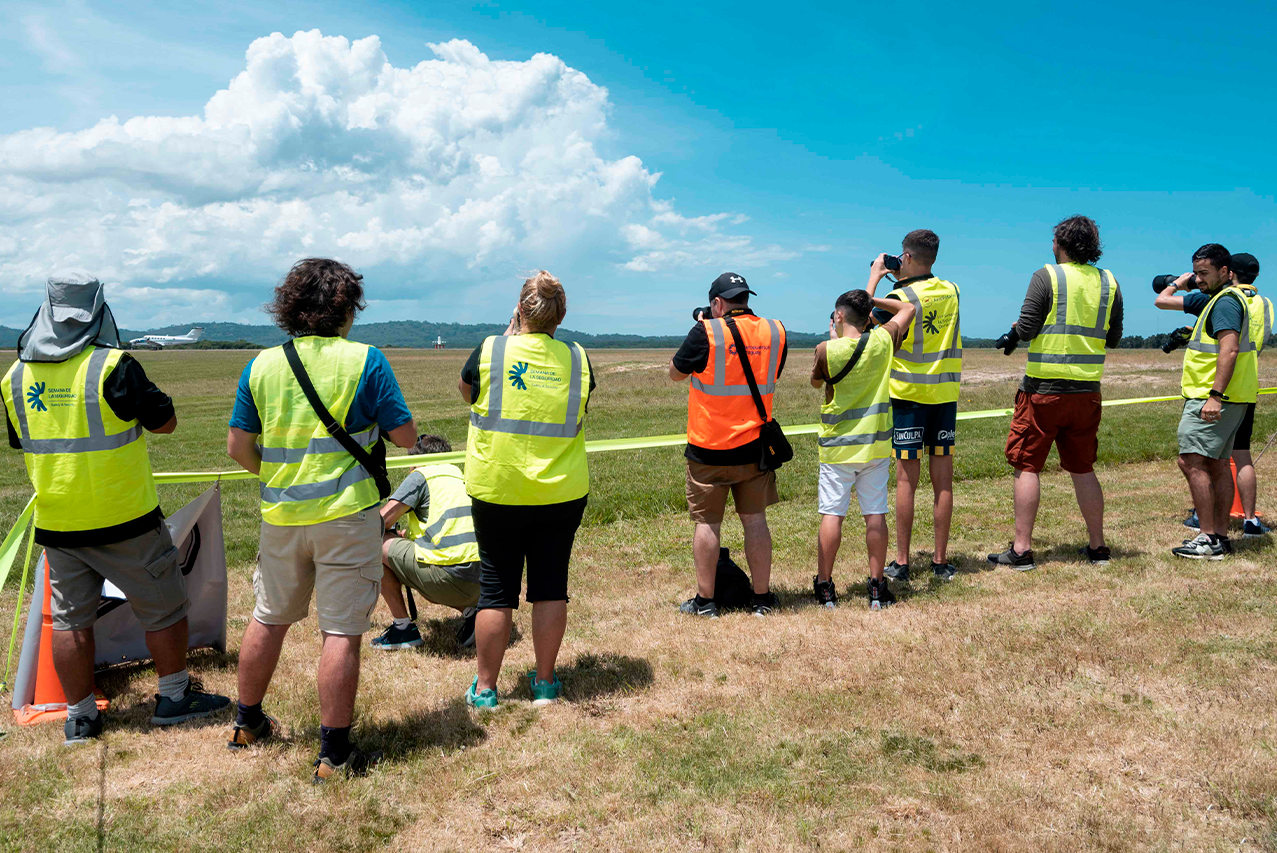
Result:
M116 418L102 395L123 355L89 346L65 361L15 361L5 374L42 530L114 527L160 506L142 425Z

